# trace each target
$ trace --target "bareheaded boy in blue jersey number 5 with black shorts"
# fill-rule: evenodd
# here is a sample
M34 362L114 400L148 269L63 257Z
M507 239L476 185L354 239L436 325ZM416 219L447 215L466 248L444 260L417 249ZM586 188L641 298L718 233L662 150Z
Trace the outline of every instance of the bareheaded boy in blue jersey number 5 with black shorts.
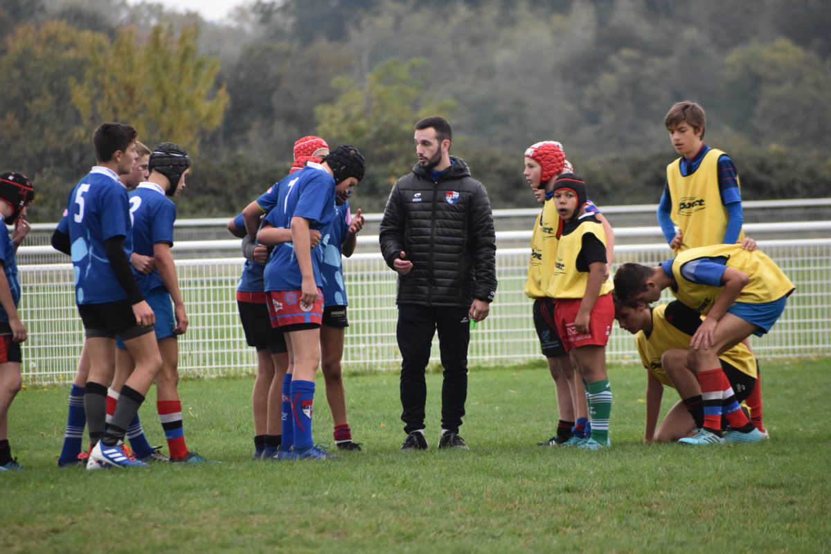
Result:
M94 448L88 469L142 467L124 449L130 422L161 369L155 314L130 267L132 229L127 190L119 175L135 164L135 129L120 123L99 125L93 134L98 165L72 189L52 245L71 254L76 303L86 331L90 360L84 409ZM106 425L107 385L113 376L116 336L125 341L135 370L120 390L111 424Z

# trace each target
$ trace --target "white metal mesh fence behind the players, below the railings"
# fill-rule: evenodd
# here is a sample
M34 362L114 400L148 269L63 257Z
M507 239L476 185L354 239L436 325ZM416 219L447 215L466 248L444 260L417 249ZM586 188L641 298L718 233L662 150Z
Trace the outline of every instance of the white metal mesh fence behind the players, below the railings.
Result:
M228 246L225 244L224 248ZM757 355L828 355L831 239L763 241L760 248L779 263L797 288L774 329L761 339L754 338ZM71 380L83 340L74 303L71 264L35 265L37 249L21 248L19 257L23 287L21 315L29 331L23 348L24 380L40 383ZM235 253L226 253L231 255ZM671 252L662 243L622 244L616 248L616 263L656 264L670 256ZM531 320L532 302L522 292L528 257L528 248L498 250L499 289L491 315L472 333L471 364L512 364L539 356ZM253 371L255 356L253 349L245 344L234 300L242 267L240 258L183 259L176 266L190 318L189 331L179 341L180 371L194 376ZM396 273L386 267L377 253L354 255L344 261L344 271L351 322L343 356L345 369L396 368L400 362L396 346ZM617 327L607 347L607 358L610 361L638 359L631 336ZM437 344L431 360L438 361Z

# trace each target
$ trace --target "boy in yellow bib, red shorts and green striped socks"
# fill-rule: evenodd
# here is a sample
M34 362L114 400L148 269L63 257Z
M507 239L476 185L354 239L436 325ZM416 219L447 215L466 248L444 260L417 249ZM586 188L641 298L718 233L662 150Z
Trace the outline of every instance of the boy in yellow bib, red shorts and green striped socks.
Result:
M607 275L606 233L602 223L580 209L586 184L563 174L553 184L553 202L563 221L548 285L555 299L554 319L567 352L573 351L586 382L592 436L576 444L584 449L610 446L612 388L606 372L606 345L614 321L612 282Z

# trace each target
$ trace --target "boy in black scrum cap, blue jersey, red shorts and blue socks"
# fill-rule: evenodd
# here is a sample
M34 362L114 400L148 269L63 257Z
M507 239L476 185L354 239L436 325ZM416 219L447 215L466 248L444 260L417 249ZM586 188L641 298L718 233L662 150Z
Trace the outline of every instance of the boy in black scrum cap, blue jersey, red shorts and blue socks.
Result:
M257 235L258 243L275 245L264 272L268 313L272 326L286 333L293 370L291 383L283 388L287 418L278 454L281 458L332 458L312 444L314 376L320 362L323 315L323 252L319 245L312 248L309 230L327 228L335 217L336 190L346 194L363 174L363 156L350 145L339 146L321 164L307 164L280 183L277 201ZM287 228L291 230L290 243L282 242Z

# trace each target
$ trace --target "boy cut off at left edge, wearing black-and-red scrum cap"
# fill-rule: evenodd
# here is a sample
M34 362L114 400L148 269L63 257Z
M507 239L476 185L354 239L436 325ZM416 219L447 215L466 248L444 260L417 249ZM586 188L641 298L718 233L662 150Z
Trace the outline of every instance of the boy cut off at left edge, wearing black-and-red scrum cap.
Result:
M0 224L14 225L11 237L8 233L0 237L0 471L23 468L12 458L8 444L8 409L22 386L20 343L27 337L26 326L17 314L21 290L15 252L29 232L24 216L34 198L32 183L25 175L0 175Z

